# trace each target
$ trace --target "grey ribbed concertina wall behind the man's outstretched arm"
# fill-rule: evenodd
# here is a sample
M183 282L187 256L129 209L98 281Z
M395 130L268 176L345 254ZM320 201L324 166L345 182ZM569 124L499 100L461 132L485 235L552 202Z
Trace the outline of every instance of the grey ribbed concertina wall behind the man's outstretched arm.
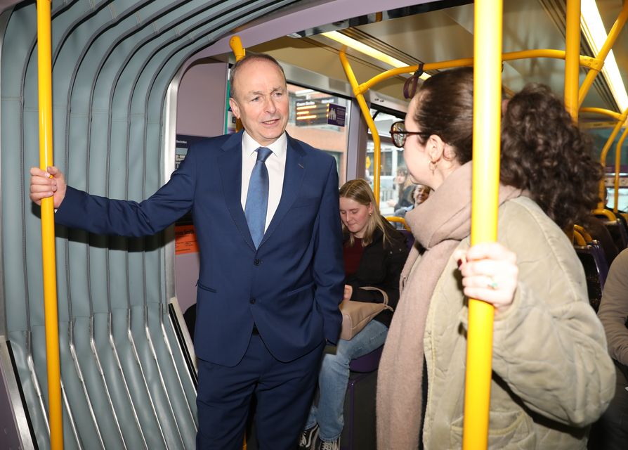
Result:
M164 183L164 98L192 54L292 1L52 2L53 146L69 183L142 200ZM37 445L49 446L33 1L1 49L1 255L7 338ZM167 235L56 229L65 449L194 448L195 385L167 312ZM3 370L6 369L3 366Z

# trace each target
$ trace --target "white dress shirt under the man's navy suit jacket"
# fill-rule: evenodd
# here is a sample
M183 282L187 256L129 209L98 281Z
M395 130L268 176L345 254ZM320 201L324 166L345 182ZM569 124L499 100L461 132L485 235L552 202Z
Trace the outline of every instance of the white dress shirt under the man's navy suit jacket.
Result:
M266 225L264 232L268 229L268 224L273 219L279 200L281 200L282 188L284 185L284 172L286 170L286 153L288 148L288 139L286 134L282 134L277 141L270 146L262 146L257 143L247 131L242 134L242 210L247 206L247 194L249 193L249 180L251 172L257 161L257 150L260 147L270 148L273 153L266 160L266 169L268 169L268 208L266 209Z

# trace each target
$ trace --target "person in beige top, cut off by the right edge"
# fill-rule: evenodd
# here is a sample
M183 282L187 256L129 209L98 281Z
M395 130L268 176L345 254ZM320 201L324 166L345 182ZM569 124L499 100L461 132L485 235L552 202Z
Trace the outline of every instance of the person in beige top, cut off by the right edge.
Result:
M615 363L615 397L591 429L589 449L624 450L628 447L628 250L610 266L598 316Z

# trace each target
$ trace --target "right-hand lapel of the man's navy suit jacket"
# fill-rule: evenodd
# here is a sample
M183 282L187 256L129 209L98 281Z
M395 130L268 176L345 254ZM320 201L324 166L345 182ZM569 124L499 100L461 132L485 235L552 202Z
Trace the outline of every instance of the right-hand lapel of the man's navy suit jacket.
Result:
M264 237L259 244L260 247L268 240L273 231L277 228L277 224L286 215L294 200L296 200L301 191L301 184L303 183L303 174L306 172L306 153L299 145L299 142L288 137L288 148L286 153L286 169L284 171L284 184L281 191L281 200L277 206L277 211L273 216L273 220L268 224L268 229L264 233ZM245 221L246 222L246 221Z

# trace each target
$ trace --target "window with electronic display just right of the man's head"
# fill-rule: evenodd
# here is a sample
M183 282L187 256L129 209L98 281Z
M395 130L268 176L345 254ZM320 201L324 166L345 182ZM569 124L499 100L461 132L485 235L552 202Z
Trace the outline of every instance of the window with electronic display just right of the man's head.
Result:
M290 96L290 117L286 127L288 133L332 155L336 160L339 183L344 184L351 109L348 99L296 84L288 84L288 93Z

